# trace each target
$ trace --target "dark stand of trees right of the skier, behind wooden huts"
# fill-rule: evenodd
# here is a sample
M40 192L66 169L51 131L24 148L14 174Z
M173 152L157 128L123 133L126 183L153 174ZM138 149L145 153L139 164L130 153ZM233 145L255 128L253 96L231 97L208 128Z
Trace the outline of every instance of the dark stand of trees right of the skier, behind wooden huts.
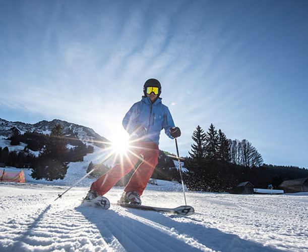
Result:
M308 177L304 168L264 164L251 142L228 139L213 124L207 132L197 126L192 139L194 143L184 165L190 190L233 192L244 181L250 181L255 188L267 188L270 184L278 188L284 180Z

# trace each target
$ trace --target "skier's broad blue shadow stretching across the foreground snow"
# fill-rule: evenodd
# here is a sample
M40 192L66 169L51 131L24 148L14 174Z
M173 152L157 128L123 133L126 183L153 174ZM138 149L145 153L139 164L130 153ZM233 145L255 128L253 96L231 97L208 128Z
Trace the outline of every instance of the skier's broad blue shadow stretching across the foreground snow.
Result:
M254 241L240 238L235 234L224 233L215 228L192 223L194 217L166 216L111 206L107 211L79 206L77 211L82 213L100 231L105 242L119 246L128 251L281 251L264 246ZM189 218L190 222L178 222L178 218ZM146 223L148 220L149 223ZM190 244L191 243L191 244Z

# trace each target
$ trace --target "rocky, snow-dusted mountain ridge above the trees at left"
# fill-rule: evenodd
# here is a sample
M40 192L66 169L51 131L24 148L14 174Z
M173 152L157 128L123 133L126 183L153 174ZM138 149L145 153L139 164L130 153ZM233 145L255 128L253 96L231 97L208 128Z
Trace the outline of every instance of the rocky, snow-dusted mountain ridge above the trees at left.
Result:
M56 124L60 124L63 127L64 134L71 140L81 140L102 148L105 148L106 143L110 142L91 128L58 119L52 121L43 120L35 124L29 124L23 122L9 122L0 118L0 138L8 138L14 134L24 134L25 132L50 134L51 129Z

